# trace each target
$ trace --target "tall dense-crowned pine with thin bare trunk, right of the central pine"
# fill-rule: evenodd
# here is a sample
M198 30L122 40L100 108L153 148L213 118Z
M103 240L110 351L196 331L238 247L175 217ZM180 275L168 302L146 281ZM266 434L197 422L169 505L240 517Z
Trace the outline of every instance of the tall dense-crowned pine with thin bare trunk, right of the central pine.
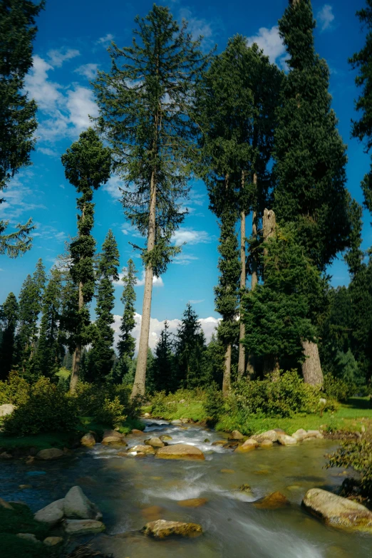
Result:
M241 294L246 289L245 229L246 216L251 210L252 287L257 284L254 246L272 182L267 165L272 157L274 111L281 79L282 73L269 63L256 44L248 47L247 38L236 35L212 61L197 91L195 118L202 129L197 172L207 183L212 210L218 217L222 213L227 175L229 187L234 190L234 199L229 203L236 207L240 219ZM239 327L243 339L243 320ZM244 344L239 343L239 376L245 371L245 360Z

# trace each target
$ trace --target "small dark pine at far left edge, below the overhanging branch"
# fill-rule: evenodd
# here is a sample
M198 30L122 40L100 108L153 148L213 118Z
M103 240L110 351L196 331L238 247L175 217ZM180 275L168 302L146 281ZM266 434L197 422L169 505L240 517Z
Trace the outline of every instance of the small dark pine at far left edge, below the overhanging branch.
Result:
M16 296L9 293L4 304L0 306L0 380L6 380L16 356L16 327L18 324L19 306Z

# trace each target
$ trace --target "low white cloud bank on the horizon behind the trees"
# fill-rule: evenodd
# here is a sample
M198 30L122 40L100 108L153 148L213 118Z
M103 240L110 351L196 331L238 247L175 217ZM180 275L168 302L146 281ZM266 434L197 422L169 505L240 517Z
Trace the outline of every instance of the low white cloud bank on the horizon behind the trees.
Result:
M120 333L120 324L121 324L121 316L114 316L115 323L113 324L113 330L115 331L115 346L118 343L119 333ZM138 351L138 345L140 343L140 331L141 331L141 321L142 316L140 314L135 314L135 328L131 331L131 334L135 338L135 351ZM167 320L170 332L172 334L177 333L177 328L180 326L181 320L172 319ZM216 327L219 324L219 319L217 318L201 318L199 320L200 325L202 326L202 330L205 334L205 339L207 343L209 343L210 338L212 337L213 332L215 331ZM150 320L150 335L149 335L149 346L151 349L156 347L157 341L160 338L160 333L164 329L164 320L160 321L156 318L151 318Z

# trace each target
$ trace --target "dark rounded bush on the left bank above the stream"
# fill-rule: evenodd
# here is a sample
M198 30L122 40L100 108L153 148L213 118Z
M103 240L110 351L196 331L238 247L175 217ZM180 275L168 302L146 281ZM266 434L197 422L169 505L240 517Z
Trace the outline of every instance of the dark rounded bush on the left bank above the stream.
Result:
M4 418L7 435L73 432L78 424L76 406L60 387L41 377L29 387L29 398Z

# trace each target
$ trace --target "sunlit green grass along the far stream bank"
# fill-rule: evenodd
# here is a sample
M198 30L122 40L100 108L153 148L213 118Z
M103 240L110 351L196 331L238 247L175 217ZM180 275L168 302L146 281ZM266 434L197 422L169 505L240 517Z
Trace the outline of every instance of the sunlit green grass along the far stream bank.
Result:
M154 418L175 420L191 418L197 422L207 419L202 401L185 401L165 403ZM151 406L143 408L143 412L151 412ZM293 434L299 428L305 430L325 430L328 432L361 432L362 427L372 430L372 408L369 398L351 398L348 403L340 405L334 413L323 415L297 414L291 418L262 417L259 415L239 416L225 415L215 425L216 430L231 432L239 430L244 435L262 433L272 428L282 428L288 434Z

